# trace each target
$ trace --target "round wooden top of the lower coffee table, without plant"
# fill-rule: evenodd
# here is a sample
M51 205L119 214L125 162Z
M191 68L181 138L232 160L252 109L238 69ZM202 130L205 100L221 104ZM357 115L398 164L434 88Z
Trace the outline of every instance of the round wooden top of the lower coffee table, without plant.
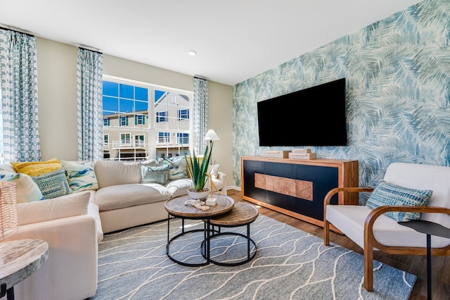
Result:
M252 223L259 215L256 206L244 202L236 202L228 213L211 218L211 225L238 226Z

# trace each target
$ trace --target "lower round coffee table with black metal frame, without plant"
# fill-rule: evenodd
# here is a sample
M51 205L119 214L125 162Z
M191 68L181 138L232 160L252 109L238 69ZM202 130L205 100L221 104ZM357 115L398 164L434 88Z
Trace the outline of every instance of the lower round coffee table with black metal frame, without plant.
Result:
M233 263L227 263L227 262L221 262L214 260L212 258L209 258L210 262L216 264L216 265L223 265L223 266L236 266L236 265L243 265L244 263L248 263L251 261L257 251L257 247L253 239L250 238L250 224L253 223L256 218L259 215L259 210L256 206L252 204L248 204L246 202L236 202L233 206L233 209L229 211L228 213L224 213L222 215L219 215L217 217L210 219L210 225L212 225L212 235L210 236L210 239L207 240L207 242L212 242L214 240L214 237L220 237L223 235L237 235L240 237L245 237L247 239L247 258L235 261ZM247 226L247 235L243 235L239 232L221 232L221 227L240 227L240 226ZM214 226L219 227L219 230L214 230ZM217 232L217 233L214 233ZM203 244L205 241L203 241ZM250 250L250 243L253 245L253 249ZM202 244L202 251L204 249L204 246ZM205 253L202 252L203 257L205 257Z

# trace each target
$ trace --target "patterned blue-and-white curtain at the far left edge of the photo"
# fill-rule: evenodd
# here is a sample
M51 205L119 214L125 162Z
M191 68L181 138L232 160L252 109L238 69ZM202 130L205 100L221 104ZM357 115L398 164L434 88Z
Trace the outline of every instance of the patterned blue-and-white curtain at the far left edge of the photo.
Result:
M40 161L36 38L0 28L1 161Z

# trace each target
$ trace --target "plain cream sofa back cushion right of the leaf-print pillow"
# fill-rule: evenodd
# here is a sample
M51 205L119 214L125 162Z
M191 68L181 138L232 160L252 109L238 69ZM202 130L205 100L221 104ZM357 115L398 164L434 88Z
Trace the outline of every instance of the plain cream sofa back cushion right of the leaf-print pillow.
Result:
M141 163L96 161L94 164L98 188L141 182Z

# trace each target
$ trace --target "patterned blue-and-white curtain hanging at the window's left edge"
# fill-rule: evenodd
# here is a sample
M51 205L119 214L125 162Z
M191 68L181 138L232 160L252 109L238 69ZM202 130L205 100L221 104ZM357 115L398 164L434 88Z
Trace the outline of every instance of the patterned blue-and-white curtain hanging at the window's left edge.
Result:
M103 159L103 54L78 49L78 159Z

